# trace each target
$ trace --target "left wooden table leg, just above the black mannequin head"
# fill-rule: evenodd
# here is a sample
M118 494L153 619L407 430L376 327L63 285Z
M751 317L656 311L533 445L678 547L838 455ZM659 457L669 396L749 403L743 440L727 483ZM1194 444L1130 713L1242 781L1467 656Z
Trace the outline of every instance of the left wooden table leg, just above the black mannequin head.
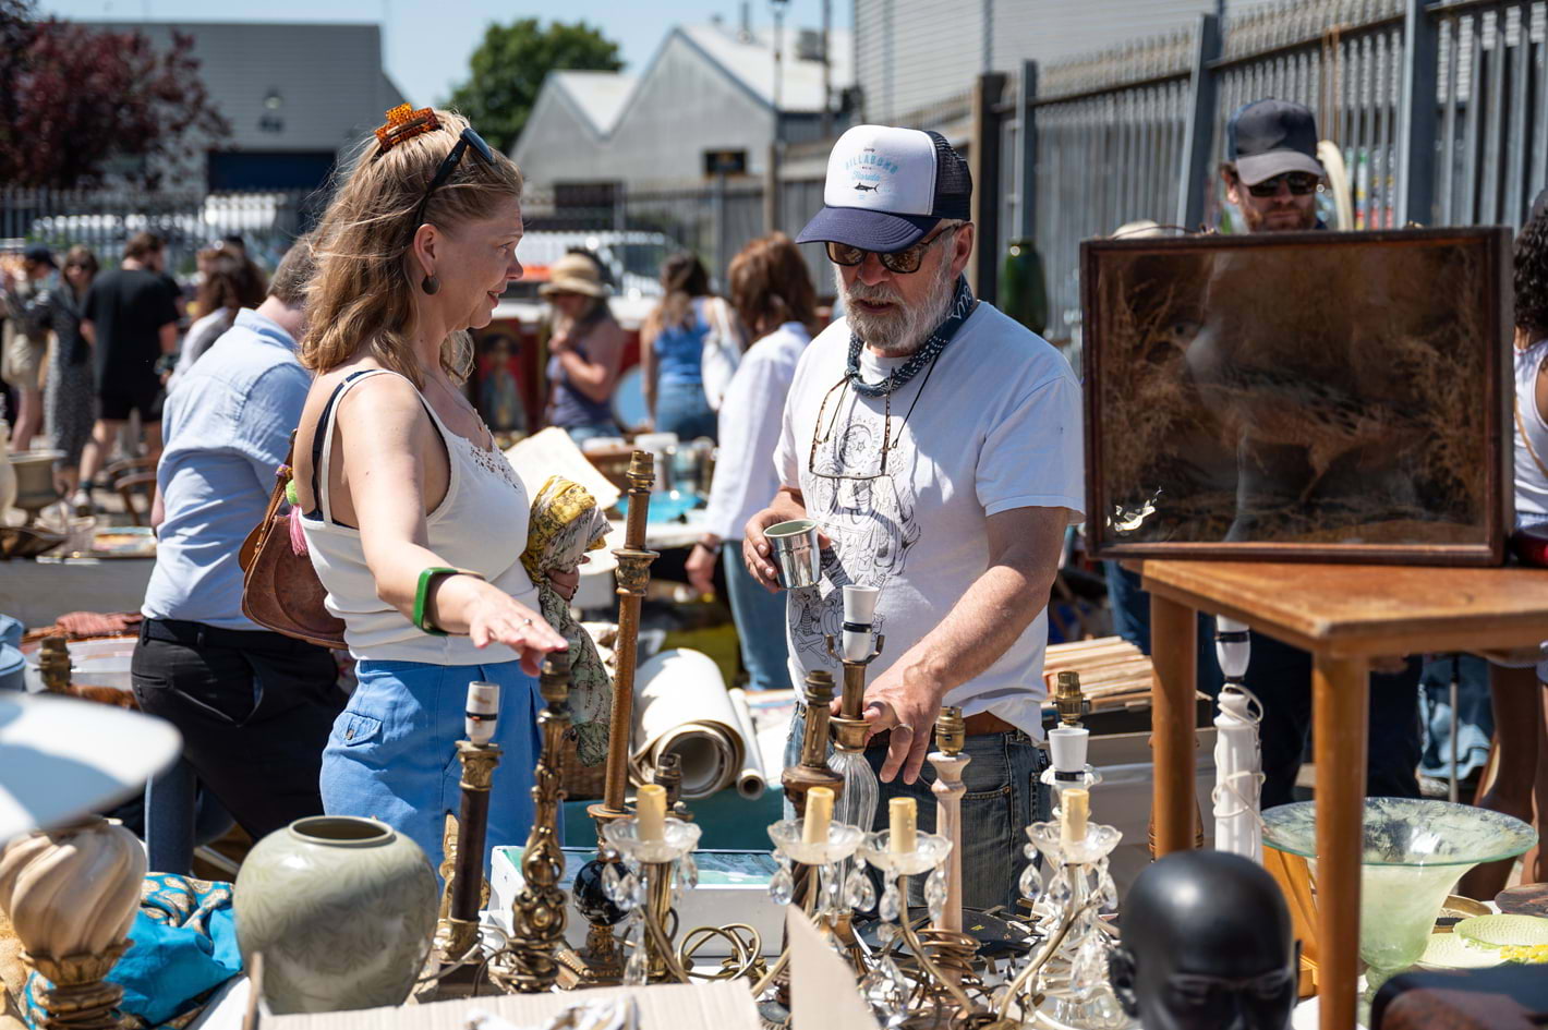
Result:
M1150 595L1150 661L1155 688L1150 697L1150 750L1155 762L1156 858L1194 846L1194 723L1198 616L1194 609Z

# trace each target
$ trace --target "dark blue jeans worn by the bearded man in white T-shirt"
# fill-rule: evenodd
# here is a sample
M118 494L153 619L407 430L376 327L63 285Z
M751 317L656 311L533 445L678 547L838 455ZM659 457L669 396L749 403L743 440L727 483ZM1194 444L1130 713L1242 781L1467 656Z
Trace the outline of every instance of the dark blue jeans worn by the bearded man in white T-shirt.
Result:
M805 708L796 706L789 722L789 737L785 742L785 765L800 764L800 737L807 730ZM963 905L971 909L991 909L1003 905L1014 911L1017 881L1026 867L1022 846L1026 844L1026 826L1046 821L1053 813L1050 788L1037 782L1048 767L1048 753L1025 733L983 733L968 737L963 754L972 760L963 771ZM870 748L865 759L881 774L885 748ZM890 798L913 798L918 802L918 827L935 832L935 768L929 759L920 779L904 784L899 774L890 784L881 784L881 801L876 818L867 829L887 829L887 801ZM786 802L788 809L789 802ZM786 818L794 818L786 810ZM910 905L920 903L924 877L910 877Z

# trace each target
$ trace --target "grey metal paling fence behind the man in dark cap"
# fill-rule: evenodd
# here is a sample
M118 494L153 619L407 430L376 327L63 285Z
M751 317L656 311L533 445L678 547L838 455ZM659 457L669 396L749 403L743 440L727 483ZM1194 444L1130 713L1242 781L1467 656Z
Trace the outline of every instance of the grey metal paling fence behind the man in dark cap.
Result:
M1081 240L1136 218L1235 228L1218 166L1231 113L1254 99L1317 115L1354 228L1519 226L1548 186L1545 0L1303 0L1224 23L1203 15L1181 36L1028 62L1009 90L1002 130L1025 156L1006 221L1043 257L1056 341L1079 335Z

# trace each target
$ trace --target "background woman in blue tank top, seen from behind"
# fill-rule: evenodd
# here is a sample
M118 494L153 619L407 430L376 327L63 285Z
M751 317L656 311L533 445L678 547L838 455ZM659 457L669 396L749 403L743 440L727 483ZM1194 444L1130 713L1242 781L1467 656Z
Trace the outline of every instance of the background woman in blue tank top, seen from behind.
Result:
M646 319L639 359L646 406L658 432L678 440L715 438L715 410L704 395L704 338L711 333L709 274L689 252L661 266L661 304Z

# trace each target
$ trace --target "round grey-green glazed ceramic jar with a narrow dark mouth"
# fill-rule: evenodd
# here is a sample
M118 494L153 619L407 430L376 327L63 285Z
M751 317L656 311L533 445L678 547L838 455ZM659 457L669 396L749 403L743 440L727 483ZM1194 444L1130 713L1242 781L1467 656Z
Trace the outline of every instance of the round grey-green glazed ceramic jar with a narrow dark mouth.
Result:
M311 816L249 852L234 909L243 966L263 954L274 1015L401 1005L435 932L435 872L385 822Z

